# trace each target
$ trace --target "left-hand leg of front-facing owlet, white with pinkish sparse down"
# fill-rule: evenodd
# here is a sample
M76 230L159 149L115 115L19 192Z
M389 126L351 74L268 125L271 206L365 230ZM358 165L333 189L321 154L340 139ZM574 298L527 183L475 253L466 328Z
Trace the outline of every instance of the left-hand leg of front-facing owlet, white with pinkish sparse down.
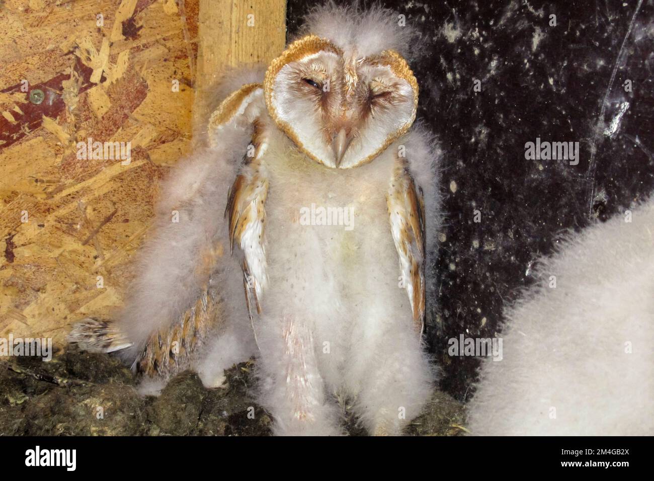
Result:
M295 314L284 313L281 321L264 320L257 334L260 401L275 418L273 433L341 435L337 407L326 395L309 325Z

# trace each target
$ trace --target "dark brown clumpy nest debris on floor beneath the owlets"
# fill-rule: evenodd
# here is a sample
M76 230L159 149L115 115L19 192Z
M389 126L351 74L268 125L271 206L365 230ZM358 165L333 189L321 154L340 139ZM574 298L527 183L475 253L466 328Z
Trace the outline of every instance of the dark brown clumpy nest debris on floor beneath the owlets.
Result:
M68 349L50 362L17 357L0 365L2 436L267 436L272 418L253 400L254 361L225 371L226 382L205 388L190 370L158 397L141 396L137 380L118 359ZM365 435L347 406L350 435ZM436 391L408 435L466 433L464 406Z

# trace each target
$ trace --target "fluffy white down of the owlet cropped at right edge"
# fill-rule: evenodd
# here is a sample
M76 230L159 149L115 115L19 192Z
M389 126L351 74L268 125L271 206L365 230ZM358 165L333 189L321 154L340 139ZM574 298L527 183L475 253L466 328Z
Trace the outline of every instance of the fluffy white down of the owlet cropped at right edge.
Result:
M481 368L472 433L654 434L654 201L571 236L538 276Z

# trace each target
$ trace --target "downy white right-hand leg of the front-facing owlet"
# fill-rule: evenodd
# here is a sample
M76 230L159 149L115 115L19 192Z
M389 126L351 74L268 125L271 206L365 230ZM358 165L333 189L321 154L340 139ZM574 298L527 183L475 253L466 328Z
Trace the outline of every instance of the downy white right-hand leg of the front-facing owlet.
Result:
M373 317L354 327L346 384L354 412L371 435L401 435L432 393L419 334L406 324Z

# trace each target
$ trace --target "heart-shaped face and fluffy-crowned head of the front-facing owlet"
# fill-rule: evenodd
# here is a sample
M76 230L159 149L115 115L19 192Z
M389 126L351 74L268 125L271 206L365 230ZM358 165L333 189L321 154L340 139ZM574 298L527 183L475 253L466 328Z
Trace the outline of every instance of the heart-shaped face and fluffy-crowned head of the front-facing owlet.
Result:
M398 52L408 32L390 10L327 7L269 66L267 109L313 160L332 168L370 162L413 120L418 84Z

